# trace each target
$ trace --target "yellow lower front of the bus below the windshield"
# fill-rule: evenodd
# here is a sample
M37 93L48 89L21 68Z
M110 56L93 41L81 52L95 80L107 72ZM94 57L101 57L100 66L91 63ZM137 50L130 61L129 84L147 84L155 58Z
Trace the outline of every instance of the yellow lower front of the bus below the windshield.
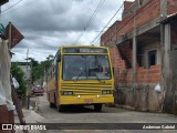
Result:
M72 91L73 95L61 95L59 104L94 104L94 103L114 103L112 80L104 81L62 81L58 89L61 95L63 91ZM112 94L102 94L103 90L111 90ZM86 101L92 100L92 101Z

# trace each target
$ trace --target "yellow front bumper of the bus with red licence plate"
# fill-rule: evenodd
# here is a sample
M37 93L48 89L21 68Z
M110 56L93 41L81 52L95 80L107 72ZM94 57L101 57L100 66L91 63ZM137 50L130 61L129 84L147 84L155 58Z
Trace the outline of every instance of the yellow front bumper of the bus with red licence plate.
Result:
M114 103L113 94L107 95L62 95L59 100L61 105L70 104L95 104Z

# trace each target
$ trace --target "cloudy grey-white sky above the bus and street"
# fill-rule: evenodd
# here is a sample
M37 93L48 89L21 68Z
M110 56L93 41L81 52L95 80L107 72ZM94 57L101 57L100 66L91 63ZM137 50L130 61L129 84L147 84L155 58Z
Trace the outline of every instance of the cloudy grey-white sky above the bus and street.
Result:
M123 1L9 0L2 7L2 23L11 21L24 35L12 50L15 53L12 61L24 61L28 48L30 58L42 61L49 54L54 55L60 45L98 44L96 35ZM121 19L122 11L108 25Z

